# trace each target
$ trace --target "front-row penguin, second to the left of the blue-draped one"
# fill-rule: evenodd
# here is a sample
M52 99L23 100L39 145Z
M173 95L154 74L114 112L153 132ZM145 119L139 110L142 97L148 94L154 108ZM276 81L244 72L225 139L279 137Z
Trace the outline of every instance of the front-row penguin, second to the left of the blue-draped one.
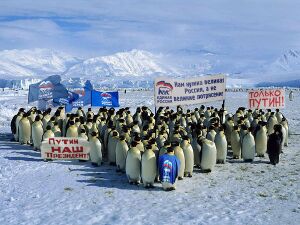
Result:
M141 181L141 153L136 146L137 142L133 141L126 157L126 175L130 184Z

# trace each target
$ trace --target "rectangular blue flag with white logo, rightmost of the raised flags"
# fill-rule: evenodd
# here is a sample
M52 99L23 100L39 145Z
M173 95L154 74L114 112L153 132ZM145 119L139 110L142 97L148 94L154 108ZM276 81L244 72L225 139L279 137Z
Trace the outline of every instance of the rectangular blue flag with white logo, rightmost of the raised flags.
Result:
M119 107L119 93L92 91L92 106Z

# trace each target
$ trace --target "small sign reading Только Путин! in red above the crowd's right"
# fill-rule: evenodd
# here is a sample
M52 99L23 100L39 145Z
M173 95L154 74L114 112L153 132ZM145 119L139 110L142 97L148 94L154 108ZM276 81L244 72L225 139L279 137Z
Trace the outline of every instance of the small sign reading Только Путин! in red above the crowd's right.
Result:
M284 108L284 89L264 89L248 91L250 109Z

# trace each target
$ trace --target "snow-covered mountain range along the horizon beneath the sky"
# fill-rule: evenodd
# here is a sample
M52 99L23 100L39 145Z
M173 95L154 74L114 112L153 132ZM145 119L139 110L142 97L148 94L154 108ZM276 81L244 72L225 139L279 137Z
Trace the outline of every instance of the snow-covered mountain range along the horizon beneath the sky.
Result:
M60 74L65 81L89 79L95 86L107 88L151 88L157 76L184 78L211 73L227 74L229 87L272 85L272 82L293 84L288 81L299 79L300 52L297 50L288 50L274 62L255 70L238 73L232 66L222 64L223 61L221 56L209 51L153 54L134 49L82 59L49 49L4 50L0 51L0 87L24 86L53 74Z

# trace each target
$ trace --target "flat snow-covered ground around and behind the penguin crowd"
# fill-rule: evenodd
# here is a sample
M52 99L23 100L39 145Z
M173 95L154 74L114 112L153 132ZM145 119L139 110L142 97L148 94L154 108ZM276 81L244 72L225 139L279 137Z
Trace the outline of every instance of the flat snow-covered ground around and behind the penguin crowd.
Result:
M10 142L10 120L26 103L26 93L0 93L0 224L299 224L299 93L283 110L292 135L277 166L229 156L173 192L129 185L107 164L43 162L31 147ZM121 94L121 106L141 105L153 108L152 92ZM228 111L238 106L247 106L247 93L227 93Z

